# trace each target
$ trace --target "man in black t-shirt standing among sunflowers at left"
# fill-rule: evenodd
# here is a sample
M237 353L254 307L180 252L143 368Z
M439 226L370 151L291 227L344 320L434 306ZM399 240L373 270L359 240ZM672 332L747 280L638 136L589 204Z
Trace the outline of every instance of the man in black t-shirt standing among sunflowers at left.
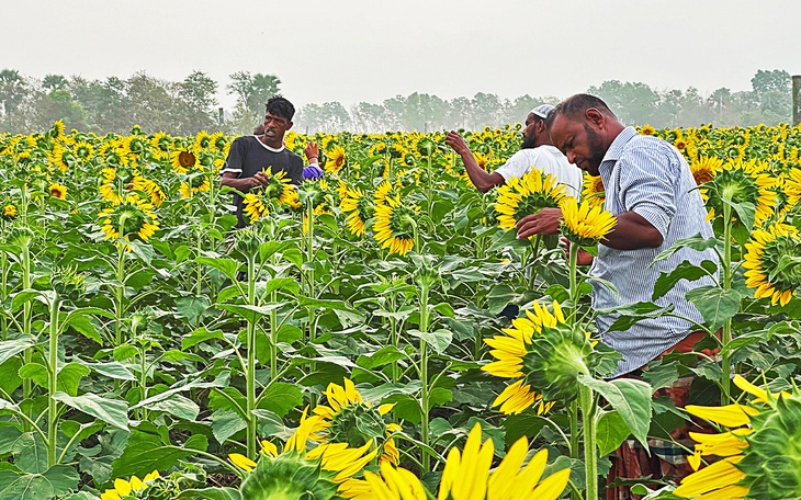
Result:
M270 178L264 171L272 167L272 173L283 171L292 184L303 181L303 159L284 147L284 134L292 128L295 106L286 99L277 95L267 102L264 132L261 135L241 136L230 144L228 158L221 171L221 185L247 193L251 188L267 185ZM242 218L244 200L234 195L237 227L245 227Z

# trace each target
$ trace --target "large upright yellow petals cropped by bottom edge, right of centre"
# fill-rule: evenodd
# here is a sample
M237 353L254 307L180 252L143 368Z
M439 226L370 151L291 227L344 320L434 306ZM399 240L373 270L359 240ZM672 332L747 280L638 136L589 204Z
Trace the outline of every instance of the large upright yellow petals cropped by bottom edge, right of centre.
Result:
M559 470L542 479L548 465L548 451L538 452L523 466L529 452L528 440L520 438L490 473L494 446L490 440L482 443L481 424L467 435L464 448L452 447L448 453L438 500L515 500L535 498L555 500L564 491L571 469Z

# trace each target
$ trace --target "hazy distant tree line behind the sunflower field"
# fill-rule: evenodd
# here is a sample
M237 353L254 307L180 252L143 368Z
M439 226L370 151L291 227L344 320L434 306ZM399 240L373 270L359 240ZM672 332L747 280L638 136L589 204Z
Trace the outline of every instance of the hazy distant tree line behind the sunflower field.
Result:
M49 128L64 120L67 129L125 134L134 124L144 130L194 135L222 129L229 134L252 132L263 117L264 103L281 93L274 75L238 71L229 76L228 94L236 96L234 110L224 115L215 98L218 83L203 71L182 81L166 81L144 71L123 80L88 80L80 76L47 75L43 79L14 69L0 71L0 132L30 133ZM775 125L792 117L792 79L783 70L758 70L752 90L732 92L720 88L709 95L690 87L657 90L646 83L608 80L587 89L603 99L627 124L655 127ZM290 99L291 95L287 95ZM566 96L566 95L565 95ZM419 130L503 126L521 122L541 103L555 104L556 96L514 100L494 93L472 99L443 100L415 92L381 103L360 102L347 110L339 102L303 105L295 116L301 133Z

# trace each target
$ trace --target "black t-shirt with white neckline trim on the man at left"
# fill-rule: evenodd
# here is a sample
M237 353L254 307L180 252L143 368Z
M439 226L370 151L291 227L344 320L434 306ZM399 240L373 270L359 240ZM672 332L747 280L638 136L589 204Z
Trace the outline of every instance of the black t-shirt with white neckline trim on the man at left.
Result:
M242 136L234 139L221 173L233 172L240 179L251 178L256 175L256 172L264 171L270 167L272 167L272 173L286 172L285 175L291 179L292 184L300 185L303 182L303 159L285 147L279 150L272 149L259 140L257 136ZM242 189L240 191L247 193L250 190ZM239 218L239 227L245 226L242 219L245 205L242 202L241 196L234 194L234 205L236 206L236 216Z

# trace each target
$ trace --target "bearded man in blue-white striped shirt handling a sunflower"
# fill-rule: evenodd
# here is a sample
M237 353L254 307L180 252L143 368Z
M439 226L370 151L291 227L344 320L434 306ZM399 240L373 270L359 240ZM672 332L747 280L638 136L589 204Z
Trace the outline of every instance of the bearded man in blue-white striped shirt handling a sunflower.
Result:
M561 103L549 121L551 139L572 163L591 175L600 175L606 190L605 208L614 215L617 224L598 245L598 257L584 253L583 263L593 263L590 275L610 282L616 295L603 282L593 283L593 307L609 307L652 302L654 284L662 273L669 273L681 262L700 264L711 261L719 265L712 249L696 251L682 248L667 259L654 262L663 250L677 240L700 234L712 238L707 221L707 208L687 161L667 141L641 136L627 127L598 98L577 94ZM559 234L562 214L559 208L543 208L518 223L518 238L531 235ZM680 280L670 292L658 298L658 306L674 306L674 314L703 323L696 307L685 294L699 286L714 285L711 277L689 282ZM636 376L650 361L663 353L692 351L703 333L693 325L674 316L663 316L634 323L625 331L609 331L618 315L598 315L596 322L603 342L611 345L623 360L612 374ZM689 382L678 380L676 406L684 406ZM619 451L620 455L621 452ZM643 454L644 455L644 454ZM627 458L623 456L623 458ZM668 466L661 464L663 475L684 475L684 457L670 457ZM679 467L675 467L675 466ZM613 470L613 475L636 477L655 470ZM658 476L657 476L658 477ZM624 497L618 497L624 498Z

